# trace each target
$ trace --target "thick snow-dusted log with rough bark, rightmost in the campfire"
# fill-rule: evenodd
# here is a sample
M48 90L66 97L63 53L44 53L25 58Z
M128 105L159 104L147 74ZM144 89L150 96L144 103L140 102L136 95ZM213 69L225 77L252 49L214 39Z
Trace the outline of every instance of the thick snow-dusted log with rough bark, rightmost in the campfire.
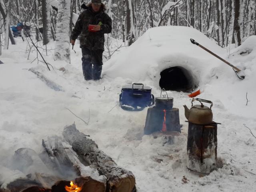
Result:
M132 172L118 167L112 158L98 149L93 140L79 132L75 124L66 126L62 134L78 156L84 160L83 164L96 168L100 175L106 176L106 191L131 192L135 188L135 178Z

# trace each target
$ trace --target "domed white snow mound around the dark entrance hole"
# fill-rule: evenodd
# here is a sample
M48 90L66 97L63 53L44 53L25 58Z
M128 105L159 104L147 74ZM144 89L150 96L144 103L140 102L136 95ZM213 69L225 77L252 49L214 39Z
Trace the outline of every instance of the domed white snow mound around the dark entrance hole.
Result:
M202 48L192 44L190 38L212 50L224 54L224 49L194 28L162 26L149 29L134 44L104 64L104 75L130 78L134 82L153 80L159 86L162 70L180 66L191 72L201 84L220 61Z

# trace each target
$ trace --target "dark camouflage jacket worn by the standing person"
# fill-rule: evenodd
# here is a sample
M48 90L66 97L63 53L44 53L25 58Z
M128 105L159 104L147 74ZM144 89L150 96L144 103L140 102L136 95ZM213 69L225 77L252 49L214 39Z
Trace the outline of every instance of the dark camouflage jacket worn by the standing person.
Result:
M104 50L104 34L110 33L112 30L112 20L106 14L104 4L100 12L93 12L92 7L86 6L85 11L82 12L75 24L71 34L71 39L76 40L80 35L80 47L86 47L90 50ZM98 32L89 32L88 25L97 25L102 22L101 30Z

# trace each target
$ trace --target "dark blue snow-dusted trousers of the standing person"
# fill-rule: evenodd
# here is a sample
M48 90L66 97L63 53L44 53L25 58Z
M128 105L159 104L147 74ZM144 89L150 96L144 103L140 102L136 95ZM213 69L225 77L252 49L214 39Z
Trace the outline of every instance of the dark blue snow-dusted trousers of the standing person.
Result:
M89 50L82 47L82 67L84 80L99 80L102 71L103 50Z

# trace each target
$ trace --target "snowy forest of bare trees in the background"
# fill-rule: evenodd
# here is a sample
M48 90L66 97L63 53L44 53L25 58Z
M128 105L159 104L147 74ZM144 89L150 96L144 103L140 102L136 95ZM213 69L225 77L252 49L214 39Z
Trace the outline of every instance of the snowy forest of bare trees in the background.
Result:
M9 26L18 22L31 24L36 41L43 44L49 40L68 42L74 25L71 13L79 15L83 11L82 0L1 0L0 3L1 48L8 48L8 40L3 39L6 30L15 44ZM113 21L110 36L122 39L128 46L156 26L196 28L222 47L239 46L248 36L256 34L255 0L108 0L104 4ZM63 22L70 27L63 27ZM68 53L62 54L68 58Z

